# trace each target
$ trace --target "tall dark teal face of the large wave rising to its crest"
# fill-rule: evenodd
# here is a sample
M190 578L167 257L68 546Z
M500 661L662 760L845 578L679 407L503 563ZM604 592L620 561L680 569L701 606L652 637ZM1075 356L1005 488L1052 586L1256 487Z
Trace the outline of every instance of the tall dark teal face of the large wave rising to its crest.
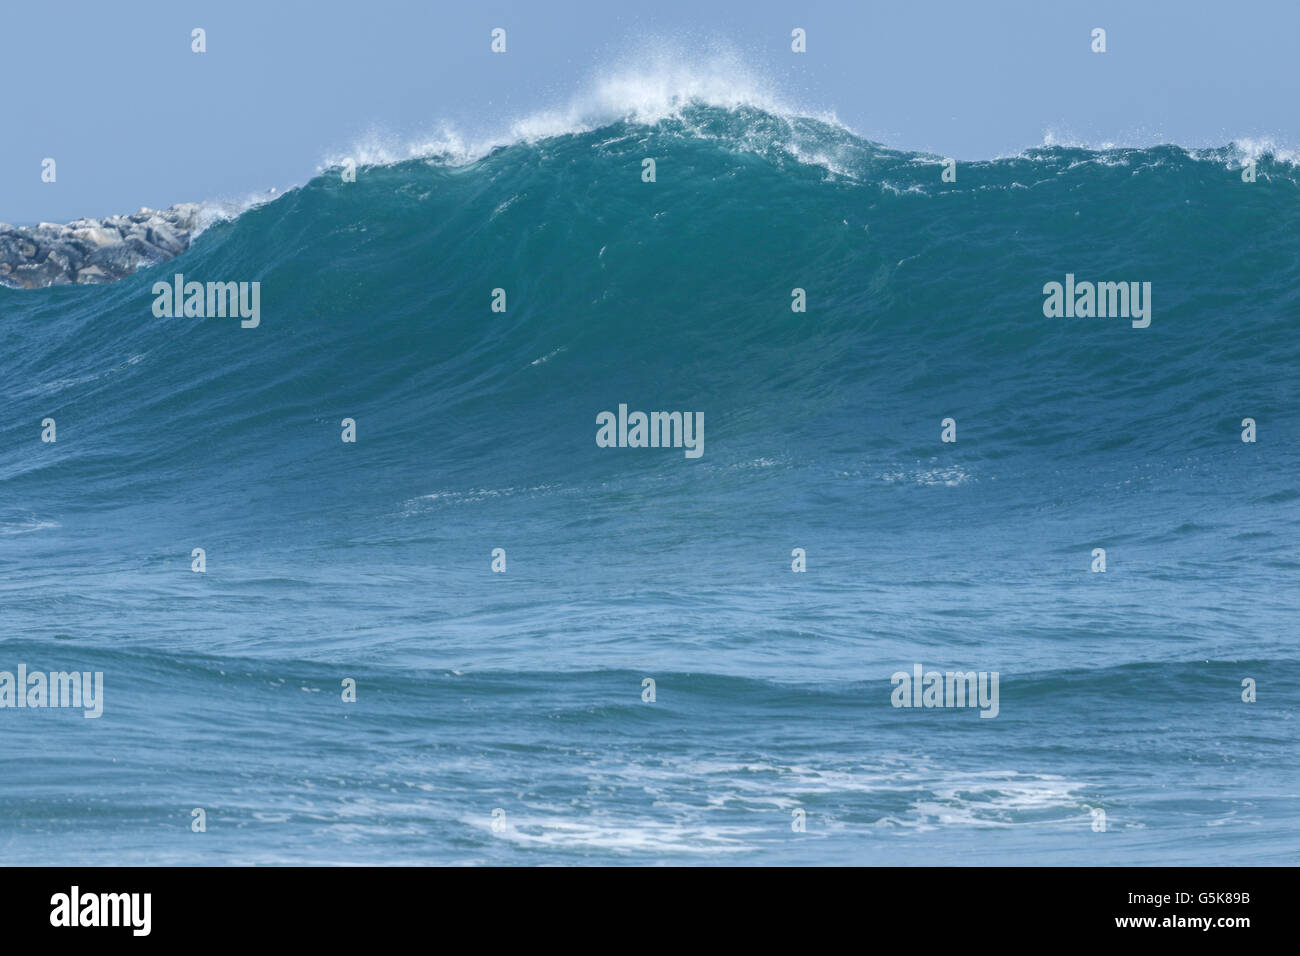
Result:
M619 108L625 118L606 121L627 99L633 108ZM1108 429L1119 428L1104 401L1110 386L1093 380L1095 363L1136 373L1131 342L1118 333L1176 329L1192 347L1171 350L1128 388L1148 401L1179 394L1202 380L1205 355L1231 328L1221 317L1223 289L1252 290L1227 303L1236 326L1279 358L1295 352L1284 316L1297 287L1284 250L1296 234L1290 199L1297 179L1292 166L1268 156L1258 159L1258 182L1244 183L1231 151L1049 147L959 163L948 182L939 157L760 109L750 100L762 98L744 90L685 82L646 90L627 81L594 100L554 126L573 131L525 137L468 163L437 153L369 166L356 182L325 172L216 221L173 264L114 284L112 298L5 291L9 360L29 369L16 368L10 388L23 402L48 403L112 386L114 402L146 408L159 363L202 375L204 354L220 354L226 394L247 390L289 408L343 401L352 411L391 414L395 403L419 416L442 397L438 420L465 419L446 436L452 446L472 444L469 427L491 434L514 415L514 444L556 470L564 455L545 438L543 406L582 423L584 445L595 414L620 403L708 411L710 447L723 450L728 433L758 434L755 423L740 411L719 418L697 397L751 395L757 407L771 406L764 420L776 445L749 447L734 459L744 462L835 446L822 440L848 434L852 410L871 407L881 419L875 434L897 444L898 454L827 462L832 473L956 475L892 484L983 486L979 462L931 463L928 449L904 438L914 427L890 416L914 415L904 410L926 395L998 421L1019 419L1020 432L1041 442L1054 406L1071 392L1062 382L1075 382L1087 386L1075 401L1095 406ZM595 122L603 125L577 131ZM654 182L642 181L646 159L658 164ZM172 308L152 308L151 290L173 286L182 273L208 286L260 284L260 321L239 328L203 319L207 312L188 311L181 294ZM1070 276L1149 284L1157 315L1135 320L1148 325L1140 329L1086 319L1093 323L1086 330L1070 303L1044 310L1044 285L1069 286ZM508 291L500 315L484 298L494 289ZM793 289L805 290L806 313L790 312ZM48 321L25 321L51 308L56 325L92 328L100 350L52 351ZM298 334L307 328L309 337ZM282 334L290 329L295 334ZM231 330L244 338L226 341ZM1050 362L1024 364L1046 347ZM1020 358L1008 363L1009 355ZM351 367L355 381L338 381L335 363ZM40 369L39 380L30 369ZM1251 356L1231 350L1216 375L1258 377ZM798 376L810 386L794 388ZM416 382L422 392L411 390ZM677 395L656 397L664 382ZM185 394L166 405L179 407ZM1221 414L1206 394L1187 401L1206 416ZM1166 405L1154 402L1128 428L1158 434L1169 424ZM257 427L231 401L220 412L220 434L231 441ZM32 414L40 421L51 410L34 405ZM118 433L125 421L105 425ZM395 442L416 427L407 415L393 423L370 437ZM1087 446L1110 441L1105 429L1052 428ZM231 454L243 457L246 446ZM526 488L552 476L491 476L472 486ZM430 490L404 489L396 501Z

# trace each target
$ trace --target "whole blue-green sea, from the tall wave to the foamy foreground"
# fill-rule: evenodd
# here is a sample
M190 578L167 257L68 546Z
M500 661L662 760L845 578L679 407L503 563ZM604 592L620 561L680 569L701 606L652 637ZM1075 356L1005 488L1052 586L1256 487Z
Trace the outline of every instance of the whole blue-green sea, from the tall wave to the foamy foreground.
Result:
M944 182L697 103L0 289L0 670L104 674L0 709L0 858L1295 862L1300 178L1240 164ZM259 328L155 317L177 272ZM703 455L598 447L620 403ZM997 717L892 706L918 663Z

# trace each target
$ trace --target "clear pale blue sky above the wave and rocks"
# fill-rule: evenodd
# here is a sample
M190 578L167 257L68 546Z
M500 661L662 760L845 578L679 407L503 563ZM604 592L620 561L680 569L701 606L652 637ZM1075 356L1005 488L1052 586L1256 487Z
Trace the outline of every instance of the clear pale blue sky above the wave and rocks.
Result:
M196 26L204 55L190 51ZM506 55L489 51L498 26ZM790 52L796 26L805 55ZM1105 55L1089 51L1097 26ZM1300 144L1296 0L8 0L0 221L282 189L372 130L502 129L634 68L650 42L702 69L729 47L794 104L959 159L1049 130ZM56 183L40 181L47 156Z

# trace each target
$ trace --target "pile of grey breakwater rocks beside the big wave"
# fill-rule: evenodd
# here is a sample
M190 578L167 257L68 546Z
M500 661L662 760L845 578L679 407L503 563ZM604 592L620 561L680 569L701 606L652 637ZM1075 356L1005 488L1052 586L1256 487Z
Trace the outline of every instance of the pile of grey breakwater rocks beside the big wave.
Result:
M43 289L51 285L116 282L139 268L165 263L190 247L199 204L142 208L130 216L79 219L68 225L0 222L0 285Z

